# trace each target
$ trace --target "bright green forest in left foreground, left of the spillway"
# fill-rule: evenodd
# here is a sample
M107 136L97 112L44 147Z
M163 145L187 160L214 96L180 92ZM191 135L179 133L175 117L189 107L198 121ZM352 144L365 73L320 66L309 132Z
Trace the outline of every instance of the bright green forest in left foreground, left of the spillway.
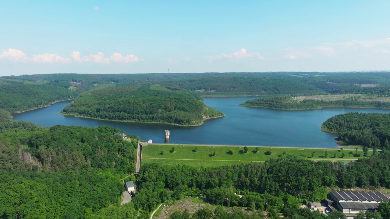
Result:
M12 121L2 110L0 120L2 218L96 218L101 209L119 206L121 178L134 172L137 142L108 126L38 127Z

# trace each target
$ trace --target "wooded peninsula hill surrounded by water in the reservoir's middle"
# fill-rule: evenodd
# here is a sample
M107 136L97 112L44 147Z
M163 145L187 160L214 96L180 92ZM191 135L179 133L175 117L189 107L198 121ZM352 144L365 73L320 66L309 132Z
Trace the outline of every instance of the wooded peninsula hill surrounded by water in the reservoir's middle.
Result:
M207 118L223 116L188 90L151 86L114 86L84 93L62 111L65 115L199 125Z

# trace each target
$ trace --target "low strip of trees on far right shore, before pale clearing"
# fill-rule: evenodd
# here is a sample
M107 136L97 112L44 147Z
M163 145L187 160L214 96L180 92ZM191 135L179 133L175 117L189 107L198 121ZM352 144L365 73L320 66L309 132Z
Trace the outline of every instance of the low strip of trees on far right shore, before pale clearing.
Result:
M240 104L240 106L254 106L271 109L321 109L324 107L390 109L390 102L358 100L324 101L314 99L298 101L294 100L291 96L277 96L248 100Z

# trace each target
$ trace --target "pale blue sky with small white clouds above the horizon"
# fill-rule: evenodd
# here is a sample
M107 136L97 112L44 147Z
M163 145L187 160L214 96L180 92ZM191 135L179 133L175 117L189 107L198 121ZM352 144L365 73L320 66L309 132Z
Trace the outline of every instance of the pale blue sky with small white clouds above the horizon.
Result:
M390 70L390 1L5 1L0 76Z

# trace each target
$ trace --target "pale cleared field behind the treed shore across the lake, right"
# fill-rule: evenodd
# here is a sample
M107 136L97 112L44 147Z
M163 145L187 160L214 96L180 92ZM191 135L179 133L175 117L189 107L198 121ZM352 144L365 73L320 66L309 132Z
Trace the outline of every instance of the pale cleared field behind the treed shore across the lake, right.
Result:
M375 97L364 94L330 94L330 95L312 95L312 96L301 96L293 97L294 100L324 100L324 101L338 101L338 100L350 100L351 98L358 101L384 101L390 102L390 97Z

